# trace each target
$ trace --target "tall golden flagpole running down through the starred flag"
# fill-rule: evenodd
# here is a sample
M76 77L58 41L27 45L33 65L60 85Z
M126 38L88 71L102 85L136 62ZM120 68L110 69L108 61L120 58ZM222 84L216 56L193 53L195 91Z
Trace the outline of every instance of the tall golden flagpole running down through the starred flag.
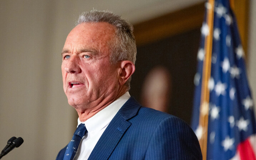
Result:
M207 135L208 135L208 114L209 114L209 88L208 81L211 77L211 59L212 59L212 39L213 39L213 16L214 16L214 0L208 0L207 3L207 26L209 34L205 39L205 58L203 63L201 103L199 126L202 127L202 137L199 140L203 160L207 157Z

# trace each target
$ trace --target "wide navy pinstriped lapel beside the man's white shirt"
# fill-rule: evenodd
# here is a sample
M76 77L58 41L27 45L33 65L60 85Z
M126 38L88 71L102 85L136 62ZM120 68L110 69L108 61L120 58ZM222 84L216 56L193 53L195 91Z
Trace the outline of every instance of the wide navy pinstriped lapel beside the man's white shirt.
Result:
M136 116L139 108L140 104L133 97L129 98L103 132L88 160L108 159L125 131L131 125L127 120Z

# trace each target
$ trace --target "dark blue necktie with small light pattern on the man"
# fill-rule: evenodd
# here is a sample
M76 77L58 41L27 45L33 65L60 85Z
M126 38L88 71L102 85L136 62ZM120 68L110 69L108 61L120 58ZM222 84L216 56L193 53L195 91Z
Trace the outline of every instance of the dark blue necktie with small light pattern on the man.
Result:
M80 143L82 137L85 135L86 131L87 131L86 127L83 123L81 123L77 127L77 129L74 132L74 135L72 137L72 140L69 142L69 144L67 146L63 160L73 160L73 158L76 154L77 148L79 146L79 143Z

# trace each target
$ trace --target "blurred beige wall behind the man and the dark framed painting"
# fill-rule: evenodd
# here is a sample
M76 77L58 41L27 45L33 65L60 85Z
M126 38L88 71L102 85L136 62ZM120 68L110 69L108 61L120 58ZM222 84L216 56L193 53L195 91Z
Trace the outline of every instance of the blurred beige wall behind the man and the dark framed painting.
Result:
M136 26L143 21L202 2L204 1L0 0L0 148L12 136L24 139L24 144L3 157L3 160L55 159L58 151L71 139L77 115L68 105L63 92L61 51L79 13L93 8L111 10ZM248 39L248 78L252 92L255 93L256 1L249 3L249 34L244 35ZM189 35L188 32L183 35L186 34ZM139 44L141 50L144 46ZM188 63L175 56L172 58L180 66ZM176 85L173 79L172 83L172 86ZM179 83L182 84L182 81ZM256 93L253 95L256 100ZM193 98L193 92L190 97ZM177 114L183 115L184 109ZM174 109L170 109L170 112L176 113Z

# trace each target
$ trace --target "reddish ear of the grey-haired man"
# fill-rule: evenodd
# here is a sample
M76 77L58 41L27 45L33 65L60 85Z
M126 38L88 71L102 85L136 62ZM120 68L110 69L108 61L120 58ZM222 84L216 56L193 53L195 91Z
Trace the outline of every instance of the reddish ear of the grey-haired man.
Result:
M135 65L130 60L124 60L120 64L119 84L123 85L135 71Z

